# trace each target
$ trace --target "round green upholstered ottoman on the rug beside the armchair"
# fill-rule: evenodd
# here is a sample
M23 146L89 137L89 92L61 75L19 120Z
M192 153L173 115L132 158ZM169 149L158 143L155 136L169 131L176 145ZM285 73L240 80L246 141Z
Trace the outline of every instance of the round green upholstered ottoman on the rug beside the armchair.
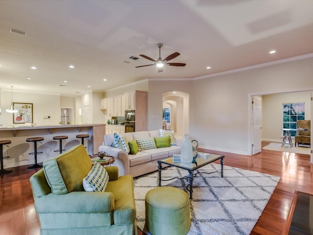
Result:
M146 228L152 235L184 235L190 225L190 202L179 188L158 187L145 196Z

